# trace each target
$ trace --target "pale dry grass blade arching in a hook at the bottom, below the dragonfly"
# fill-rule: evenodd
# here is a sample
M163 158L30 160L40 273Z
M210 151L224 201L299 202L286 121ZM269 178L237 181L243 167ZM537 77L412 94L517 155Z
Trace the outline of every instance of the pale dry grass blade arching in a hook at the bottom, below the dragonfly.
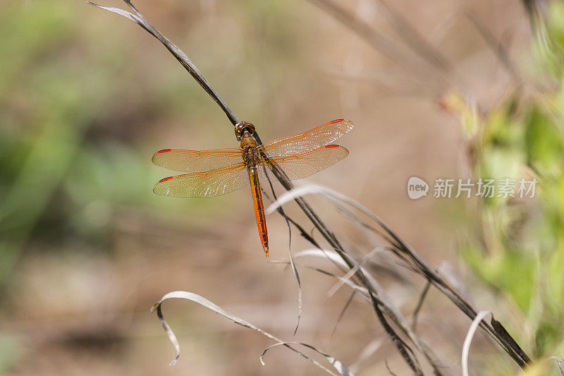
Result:
M197 295L196 293L190 293L188 291L173 291L170 293L167 293L165 296L163 296L161 298L160 301L158 301L152 308L152 310L157 310L157 316L159 317L159 321L161 322L161 324L163 325L163 328L166 332L166 335L168 336L168 338L171 340L172 344L174 345L174 348L176 348L176 357L172 360L171 365L174 365L176 363L176 361L178 360L178 357L180 356L180 345L178 344L178 340L176 339L176 335L174 334L174 332L172 331L171 327L168 325L168 323L166 322L166 320L164 320L164 315L162 313L161 310L161 305L164 301L171 299L171 298L180 298L180 299L186 299L188 301L192 301L194 303L198 303L200 305L202 305L203 307L214 311L215 313L219 313L219 315L222 315L223 317L228 318L229 320L235 322L235 324L240 325L242 327L247 327L249 329L253 329L256 332L259 332L260 334L268 337L269 339L272 339L274 341L277 342L277 344L282 344L283 346L286 346L287 348L290 348L290 350L294 351L295 353L298 353L300 356L302 356L303 358L306 358L307 360L309 360L310 362L312 362L314 365L317 365L317 367L321 368L321 370L324 370L325 372L329 373L330 375L336 375L335 372L332 372L331 370L329 370L328 368L324 367L324 365L321 365L321 363L319 363L317 360L315 360L314 358L311 358L309 356L307 356L305 353L302 353L301 351L299 351L298 349L296 349L293 346L290 346L290 344L292 344L293 342L286 342L286 341L282 341L281 339L278 339L276 336L274 336L273 334L270 334L269 332L264 331L263 329L260 329L259 327L255 327L255 325L252 325L250 322L247 322L243 319L241 319L240 317L237 317L235 315L232 315L231 313L228 313L226 310L223 310L223 308L219 307L218 305L215 305L214 303L212 303L211 301L208 301L206 298ZM300 343L301 344L301 343ZM315 348L314 346L308 345L308 344L301 344L302 346L307 346L309 348L314 349L314 351L317 351L318 353L320 353L321 355L323 355L330 363L331 365L333 365L333 367L336 368L336 370L338 370L339 375L353 375L352 373L349 372L349 370L343 365L343 363L341 363L340 361L336 360L335 358L333 358L332 356L327 355L326 353L317 350L317 348ZM266 352L266 351L265 351ZM264 365L264 363L262 362L262 357L264 356L264 352L262 353L260 360L261 363Z

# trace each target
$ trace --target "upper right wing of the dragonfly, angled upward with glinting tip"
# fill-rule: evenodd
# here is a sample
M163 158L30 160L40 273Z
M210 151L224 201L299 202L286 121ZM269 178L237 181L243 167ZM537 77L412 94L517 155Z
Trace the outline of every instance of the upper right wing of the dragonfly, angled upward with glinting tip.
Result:
M353 123L350 121L333 120L299 135L290 135L268 142L259 147L259 151L266 152L270 157L284 157L309 152L331 144L351 129L353 129Z

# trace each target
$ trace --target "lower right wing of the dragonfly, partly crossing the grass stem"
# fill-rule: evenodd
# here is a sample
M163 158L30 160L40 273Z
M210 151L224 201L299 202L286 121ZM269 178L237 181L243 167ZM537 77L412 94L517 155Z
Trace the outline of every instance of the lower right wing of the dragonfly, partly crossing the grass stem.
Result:
M276 181L270 166L276 162L288 176L288 180L301 179L313 175L322 169L333 166L348 155L348 150L339 145L326 145L318 147L309 152L303 152L288 157L273 157L269 160L263 159L257 164L259 175L263 178L268 176Z

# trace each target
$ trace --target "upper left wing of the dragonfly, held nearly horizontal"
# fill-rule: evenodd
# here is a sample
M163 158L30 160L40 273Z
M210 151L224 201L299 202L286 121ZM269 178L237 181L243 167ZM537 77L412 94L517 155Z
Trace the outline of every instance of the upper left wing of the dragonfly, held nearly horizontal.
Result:
M153 163L174 171L205 172L243 162L239 149L164 149L154 153Z

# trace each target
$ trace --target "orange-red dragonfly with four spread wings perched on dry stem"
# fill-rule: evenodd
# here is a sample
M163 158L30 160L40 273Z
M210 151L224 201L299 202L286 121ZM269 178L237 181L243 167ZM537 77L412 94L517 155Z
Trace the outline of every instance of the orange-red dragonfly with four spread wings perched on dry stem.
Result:
M307 132L259 145L253 137L255 126L243 121L235 125L235 137L240 142L238 149L156 152L152 158L154 164L186 174L161 179L153 192L173 197L209 198L250 186L259 238L268 257L269 240L259 181L305 178L336 164L348 155L348 150L332 142L351 129L352 122L333 120Z

